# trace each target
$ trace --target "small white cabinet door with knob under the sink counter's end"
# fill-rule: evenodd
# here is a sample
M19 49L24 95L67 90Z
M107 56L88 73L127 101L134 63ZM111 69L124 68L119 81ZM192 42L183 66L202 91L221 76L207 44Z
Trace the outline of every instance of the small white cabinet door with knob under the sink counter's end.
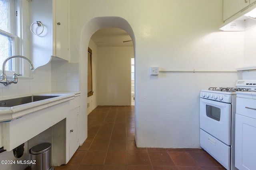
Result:
M79 147L79 107L70 111L69 127L69 158L71 158Z

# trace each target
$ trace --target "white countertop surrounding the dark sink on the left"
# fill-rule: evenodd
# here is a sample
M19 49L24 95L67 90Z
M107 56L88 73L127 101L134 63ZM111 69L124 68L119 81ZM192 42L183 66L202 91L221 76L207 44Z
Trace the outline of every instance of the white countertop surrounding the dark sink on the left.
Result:
M12 121L24 115L31 114L34 111L38 111L40 109L44 109L62 102L72 100L76 96L80 96L80 92L37 93L37 94L27 94L27 95L21 95L21 96L12 96L8 98L0 98L0 100L8 100L8 99L20 98L20 97L26 97L26 96L32 96L32 95L36 95L36 96L47 95L47 96L58 96L58 97L44 99L36 102L30 102L30 103L26 103L18 106L0 107L0 122Z

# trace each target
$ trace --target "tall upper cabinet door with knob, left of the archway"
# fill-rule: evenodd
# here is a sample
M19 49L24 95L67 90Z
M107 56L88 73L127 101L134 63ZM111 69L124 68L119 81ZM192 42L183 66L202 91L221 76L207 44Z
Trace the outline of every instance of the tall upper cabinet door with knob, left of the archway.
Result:
M69 61L68 39L69 0L56 0L56 57Z

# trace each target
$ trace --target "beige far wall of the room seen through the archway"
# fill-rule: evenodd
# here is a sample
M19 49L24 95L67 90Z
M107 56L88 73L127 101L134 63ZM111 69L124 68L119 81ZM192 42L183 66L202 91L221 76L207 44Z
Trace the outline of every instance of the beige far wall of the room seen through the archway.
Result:
M133 47L98 47L98 105L130 106Z

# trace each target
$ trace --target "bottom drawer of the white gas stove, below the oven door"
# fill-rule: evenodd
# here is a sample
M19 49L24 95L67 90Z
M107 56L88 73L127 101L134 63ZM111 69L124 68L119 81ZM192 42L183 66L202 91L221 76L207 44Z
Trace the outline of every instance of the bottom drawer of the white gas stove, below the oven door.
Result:
M200 146L220 162L222 166L230 170L230 146L222 143L202 129L200 129Z

